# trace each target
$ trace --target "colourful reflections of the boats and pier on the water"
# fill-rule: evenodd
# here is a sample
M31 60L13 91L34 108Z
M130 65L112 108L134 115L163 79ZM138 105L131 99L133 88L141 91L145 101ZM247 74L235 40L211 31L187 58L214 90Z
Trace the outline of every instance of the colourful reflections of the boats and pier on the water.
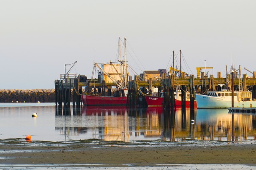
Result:
M220 140L242 142L255 140L256 117L232 114L228 109L197 109L166 111L162 107L128 109L126 106L82 107L80 115L56 116L55 129L72 140ZM194 123L191 123L191 120Z

